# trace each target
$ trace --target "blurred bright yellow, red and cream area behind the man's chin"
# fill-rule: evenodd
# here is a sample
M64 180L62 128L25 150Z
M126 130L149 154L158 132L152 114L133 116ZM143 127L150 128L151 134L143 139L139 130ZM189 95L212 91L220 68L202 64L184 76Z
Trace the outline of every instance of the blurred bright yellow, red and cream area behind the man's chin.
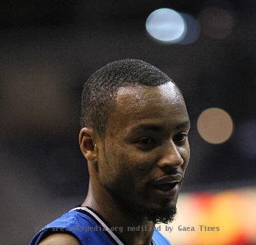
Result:
M252 245L256 244L256 189L241 188L203 193L181 193L178 215L161 232L170 244L179 245ZM194 231L179 230L194 227ZM218 230L201 230L200 225ZM159 225L156 225L158 228Z

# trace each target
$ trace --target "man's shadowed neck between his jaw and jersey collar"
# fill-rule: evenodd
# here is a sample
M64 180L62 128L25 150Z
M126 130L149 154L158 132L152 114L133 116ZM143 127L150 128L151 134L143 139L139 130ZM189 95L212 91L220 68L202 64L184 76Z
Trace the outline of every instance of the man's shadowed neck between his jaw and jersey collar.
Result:
M92 183L93 182L93 183ZM147 217L123 211L113 200L112 195L105 188L97 188L98 183L90 180L88 195L83 202L83 207L90 207L97 211L106 221L116 229L116 233L125 244L151 244L155 223ZM100 190L97 193L96 190Z

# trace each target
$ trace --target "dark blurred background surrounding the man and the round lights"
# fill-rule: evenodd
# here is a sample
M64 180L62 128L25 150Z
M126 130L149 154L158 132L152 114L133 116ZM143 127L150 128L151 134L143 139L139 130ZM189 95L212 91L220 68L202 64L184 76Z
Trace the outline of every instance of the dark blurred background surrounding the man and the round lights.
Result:
M158 8L193 18L194 39L151 38L145 22ZM183 192L256 185L255 20L253 0L1 1L0 243L28 244L83 201L81 91L91 73L117 59L154 64L184 93L192 127ZM222 144L208 143L196 127L212 107L233 122Z

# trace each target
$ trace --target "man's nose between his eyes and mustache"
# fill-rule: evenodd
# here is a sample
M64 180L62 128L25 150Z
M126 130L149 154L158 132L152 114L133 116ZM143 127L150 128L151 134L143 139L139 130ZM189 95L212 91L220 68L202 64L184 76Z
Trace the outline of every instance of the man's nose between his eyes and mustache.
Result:
M182 156L180 155L180 152L178 151L177 146L172 143L168 150L163 154L163 156L159 159L157 162L157 165L160 168L163 167L177 167L180 165L183 165L184 160Z

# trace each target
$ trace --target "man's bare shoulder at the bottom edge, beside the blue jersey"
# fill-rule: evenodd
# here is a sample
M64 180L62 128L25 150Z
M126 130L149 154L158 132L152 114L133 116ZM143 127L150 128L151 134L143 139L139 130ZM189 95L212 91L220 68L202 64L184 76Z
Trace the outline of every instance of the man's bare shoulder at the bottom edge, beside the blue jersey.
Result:
M76 237L69 234L53 234L43 239L39 245L81 245Z

